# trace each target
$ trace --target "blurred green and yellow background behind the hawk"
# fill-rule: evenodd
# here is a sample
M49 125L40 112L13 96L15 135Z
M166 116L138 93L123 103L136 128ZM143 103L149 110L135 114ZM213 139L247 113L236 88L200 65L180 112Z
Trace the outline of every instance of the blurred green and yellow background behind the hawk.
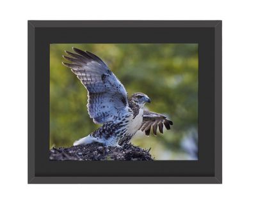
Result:
M156 160L198 159L198 45L197 44L51 44L50 148L70 147L99 128L90 119L87 91L61 64L72 47L98 55L124 84L129 96L144 92L146 108L173 121L170 131L145 136L138 131L132 143L150 149Z

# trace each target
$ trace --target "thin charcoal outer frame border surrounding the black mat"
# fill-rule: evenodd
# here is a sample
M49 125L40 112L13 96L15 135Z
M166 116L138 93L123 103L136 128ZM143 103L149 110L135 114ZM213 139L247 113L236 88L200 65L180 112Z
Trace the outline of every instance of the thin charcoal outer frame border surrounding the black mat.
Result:
M38 177L35 174L35 29L37 27L211 27L214 29L214 177ZM221 20L29 20L28 183L29 184L221 184L222 74Z

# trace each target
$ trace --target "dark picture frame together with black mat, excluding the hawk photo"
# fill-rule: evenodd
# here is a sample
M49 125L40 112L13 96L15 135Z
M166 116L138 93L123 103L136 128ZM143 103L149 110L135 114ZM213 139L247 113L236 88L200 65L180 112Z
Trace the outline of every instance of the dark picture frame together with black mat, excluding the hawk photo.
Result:
M198 161L49 161L50 43L198 43ZM222 182L221 20L28 21L28 183Z

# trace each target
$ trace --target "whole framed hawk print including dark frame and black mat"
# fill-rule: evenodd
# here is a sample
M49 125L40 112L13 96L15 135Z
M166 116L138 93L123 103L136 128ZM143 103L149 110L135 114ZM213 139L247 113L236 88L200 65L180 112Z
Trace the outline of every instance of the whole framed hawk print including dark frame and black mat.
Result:
M28 21L28 183L216 183L221 21Z

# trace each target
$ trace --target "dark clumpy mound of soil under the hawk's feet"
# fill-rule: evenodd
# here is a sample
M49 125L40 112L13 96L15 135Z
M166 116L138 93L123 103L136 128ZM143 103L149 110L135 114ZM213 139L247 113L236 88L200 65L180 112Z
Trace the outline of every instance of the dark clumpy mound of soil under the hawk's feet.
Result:
M104 147L101 143L89 143L72 147L52 148L50 150L50 160L65 161L102 161L102 160L125 160L125 161L152 161L149 150L141 149L132 144L124 147Z

